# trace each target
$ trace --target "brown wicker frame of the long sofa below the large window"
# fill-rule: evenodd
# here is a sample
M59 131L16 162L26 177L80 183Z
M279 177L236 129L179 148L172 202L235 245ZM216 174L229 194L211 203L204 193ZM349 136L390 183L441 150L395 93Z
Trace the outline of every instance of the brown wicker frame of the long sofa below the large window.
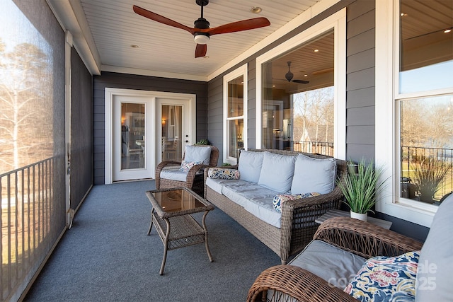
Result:
M336 162L336 179L343 181L346 175L347 163L328 156L271 149L253 149L249 151L272 153L280 156L298 156L299 154L303 154L304 156L313 159L330 159L331 161ZM229 167L229 169L234 168L241 170L241 165L243 164L241 158L242 155L239 156L239 164ZM231 200L222 193L222 189L219 190L219 188L210 185L211 182L208 174L209 170L205 170L205 199L231 216L231 218L240 223L253 234L253 236L258 238L279 255L282 264L287 262L289 256L300 252L313 238L313 235L319 226L319 224L315 222L315 219L329 209L338 209L340 207L340 199L343 197L343 194L334 181L334 187L331 192L316 197L287 200L281 204L281 214L278 216L280 226L275 226L272 223L263 220L256 214L253 214L251 211L248 211L243 204ZM240 177L242 177L242 174ZM230 183L231 180L225 180L225 182ZM243 187L243 183L244 182L239 182L237 186ZM254 190L253 187L251 190L258 194L263 192L264 195L268 192L266 191L266 188L260 187L259 185L256 187L256 190ZM269 199L269 194L272 194L272 191L270 192L271 193L268 193L268 195L263 196L263 200ZM270 202L272 203L272 197L270 198ZM258 209L258 211L260 210L261 209Z

